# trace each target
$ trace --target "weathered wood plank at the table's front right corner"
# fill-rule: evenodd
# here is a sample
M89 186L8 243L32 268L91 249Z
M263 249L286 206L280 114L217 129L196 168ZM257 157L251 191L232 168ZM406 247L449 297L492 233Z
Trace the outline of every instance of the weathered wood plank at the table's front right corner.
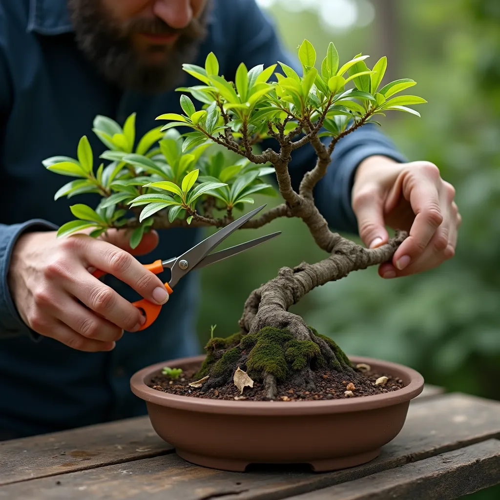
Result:
M500 483L500 441L471 444L288 500L454 500Z

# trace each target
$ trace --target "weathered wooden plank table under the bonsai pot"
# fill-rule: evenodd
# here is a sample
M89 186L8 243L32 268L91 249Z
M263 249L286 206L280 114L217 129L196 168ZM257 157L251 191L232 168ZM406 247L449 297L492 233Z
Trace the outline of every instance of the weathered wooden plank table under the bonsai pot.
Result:
M447 500L500 483L500 402L426 387L369 463L327 473L185 462L147 417L0 442L0 499ZM341 431L341 429L339 429Z

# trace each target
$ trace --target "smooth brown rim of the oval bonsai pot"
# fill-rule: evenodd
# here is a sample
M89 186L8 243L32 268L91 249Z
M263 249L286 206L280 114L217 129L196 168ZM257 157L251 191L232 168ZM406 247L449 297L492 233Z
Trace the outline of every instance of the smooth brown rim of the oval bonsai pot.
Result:
M423 390L423 377L418 371L391 361L383 361L371 357L348 356L353 363L366 363L376 369L383 369L387 374L402 378L404 387L367 396L349 397L342 399L307 400L307 401L236 401L227 399L210 399L199 396L179 396L169 394L147 386L151 377L167 363L182 367L186 364L201 363L204 355L183 357L151 364L135 372L130 378L130 389L139 398L160 406L170 408L199 411L202 413L245 414L245 415L311 415L321 413L343 413L365 411L398 404L413 399ZM244 394L244 391L243 391Z

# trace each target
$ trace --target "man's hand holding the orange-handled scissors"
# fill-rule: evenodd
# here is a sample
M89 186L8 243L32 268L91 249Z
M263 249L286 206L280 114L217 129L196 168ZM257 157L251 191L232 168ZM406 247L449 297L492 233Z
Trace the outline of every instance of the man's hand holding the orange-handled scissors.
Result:
M152 302L168 300L163 283L131 255L151 251L157 233L144 234L135 250L124 231L108 233L95 239L82 233L56 238L55 231L30 232L17 240L7 280L19 315L31 329L89 352L111 350L123 330L137 331L144 322L139 310L93 277L89 271L94 268Z

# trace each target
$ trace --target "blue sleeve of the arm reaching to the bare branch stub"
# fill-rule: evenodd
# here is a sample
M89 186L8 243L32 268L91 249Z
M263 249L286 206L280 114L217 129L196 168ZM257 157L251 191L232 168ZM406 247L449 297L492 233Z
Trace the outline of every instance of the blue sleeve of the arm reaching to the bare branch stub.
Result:
M238 4L238 17L245 19L245 22L233 23L237 25L238 31L234 34L236 41L230 57L231 62L234 61L234 67L230 67L228 74L234 75L240 62L244 62L250 69L257 64L267 67L277 61L284 62L298 74L302 74L301 65L284 49L272 21L260 10L255 0L239 0ZM276 71L278 70L279 65L276 67ZM372 155L384 155L395 161L407 161L392 141L377 128L378 125L368 123L342 137L331 155L326 175L316 185L316 206L334 230L358 233L357 220L351 206L351 190L356 167L363 159ZM323 140L327 142L328 138ZM262 146L264 149L277 149L273 139L265 141ZM304 173L314 167L315 159L315 152L310 144L293 151L288 168L295 189L298 189Z

